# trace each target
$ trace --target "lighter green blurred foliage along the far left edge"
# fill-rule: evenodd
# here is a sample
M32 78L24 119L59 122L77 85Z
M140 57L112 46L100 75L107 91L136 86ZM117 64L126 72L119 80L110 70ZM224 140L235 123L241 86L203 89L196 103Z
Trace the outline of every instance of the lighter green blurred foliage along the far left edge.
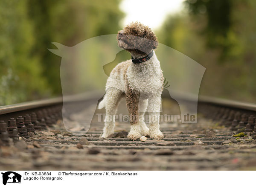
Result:
M27 3L0 1L0 105L49 96L40 60L31 53L36 40Z

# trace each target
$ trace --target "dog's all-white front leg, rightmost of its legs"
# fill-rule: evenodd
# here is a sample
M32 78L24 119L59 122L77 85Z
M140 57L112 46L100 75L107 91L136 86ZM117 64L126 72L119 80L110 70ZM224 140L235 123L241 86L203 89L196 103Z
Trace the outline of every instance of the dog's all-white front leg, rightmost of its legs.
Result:
M149 136L153 139L163 139L160 131L159 114L161 107L161 96L150 96L148 99L148 113L150 119Z

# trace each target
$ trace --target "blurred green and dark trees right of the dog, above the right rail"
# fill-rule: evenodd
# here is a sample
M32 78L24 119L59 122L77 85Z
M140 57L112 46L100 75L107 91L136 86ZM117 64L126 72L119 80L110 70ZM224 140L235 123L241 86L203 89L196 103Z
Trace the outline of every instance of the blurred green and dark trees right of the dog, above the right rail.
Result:
M187 9L158 30L160 43L206 67L201 94L256 102L256 1L185 3Z

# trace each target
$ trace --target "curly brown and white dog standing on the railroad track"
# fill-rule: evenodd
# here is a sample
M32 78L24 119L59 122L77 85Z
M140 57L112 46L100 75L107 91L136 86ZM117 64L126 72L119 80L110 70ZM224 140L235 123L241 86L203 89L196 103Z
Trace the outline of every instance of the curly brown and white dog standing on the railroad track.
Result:
M116 65L107 80L105 96L99 103L99 109L106 108L102 137L114 133L114 115L121 98L125 97L131 124L127 137L162 139L159 113L164 78L153 50L158 45L157 37L148 26L134 22L118 32L117 40L119 47L131 53L131 59ZM151 119L149 128L144 122L147 108Z

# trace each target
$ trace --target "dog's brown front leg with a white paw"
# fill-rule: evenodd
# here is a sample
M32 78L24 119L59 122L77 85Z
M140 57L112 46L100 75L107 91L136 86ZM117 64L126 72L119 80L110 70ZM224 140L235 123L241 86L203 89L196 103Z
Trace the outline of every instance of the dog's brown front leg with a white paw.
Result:
M139 99L140 99L140 93L135 90L131 90L131 88L128 87L128 90L126 92L126 105L130 115L131 130L127 137L133 141L141 137L140 135L141 127L140 127L140 123L138 122Z

